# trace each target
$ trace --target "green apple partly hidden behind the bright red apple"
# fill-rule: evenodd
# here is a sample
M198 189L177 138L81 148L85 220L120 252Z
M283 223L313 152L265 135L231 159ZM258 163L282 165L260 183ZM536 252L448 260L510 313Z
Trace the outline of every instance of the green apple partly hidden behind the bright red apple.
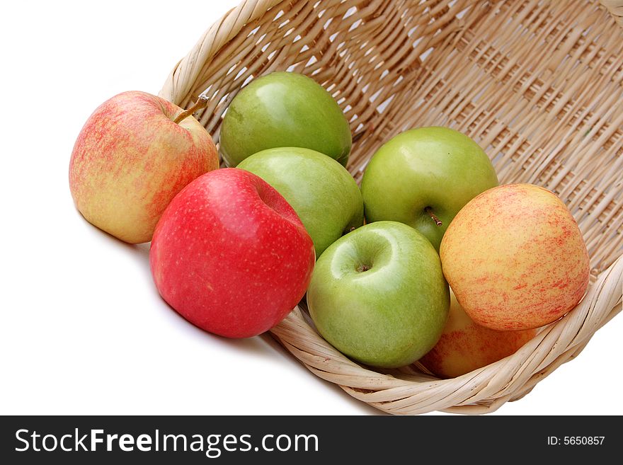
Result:
M316 257L363 224L363 200L353 176L320 152L268 149L244 159L238 168L255 173L285 197L314 241Z

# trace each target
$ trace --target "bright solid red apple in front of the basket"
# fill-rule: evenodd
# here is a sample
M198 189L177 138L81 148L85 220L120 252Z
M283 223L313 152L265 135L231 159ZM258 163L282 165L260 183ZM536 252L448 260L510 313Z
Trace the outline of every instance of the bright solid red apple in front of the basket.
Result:
M199 328L228 338L279 323L304 296L315 260L294 209L238 168L210 171L176 195L149 251L163 299Z

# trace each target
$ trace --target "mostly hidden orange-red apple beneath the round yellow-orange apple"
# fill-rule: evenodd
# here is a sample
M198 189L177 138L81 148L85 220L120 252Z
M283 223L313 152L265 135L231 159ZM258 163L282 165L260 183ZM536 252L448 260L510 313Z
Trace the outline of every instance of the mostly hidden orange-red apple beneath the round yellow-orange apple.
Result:
M450 315L438 343L420 359L441 378L455 378L513 355L537 330L496 331L475 323L450 289Z

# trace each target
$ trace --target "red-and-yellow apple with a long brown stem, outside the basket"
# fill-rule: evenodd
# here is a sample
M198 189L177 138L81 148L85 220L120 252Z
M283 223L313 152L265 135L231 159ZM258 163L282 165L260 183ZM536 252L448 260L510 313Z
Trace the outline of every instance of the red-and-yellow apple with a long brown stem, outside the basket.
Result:
M129 243L149 242L160 215L191 180L219 166L204 127L149 93L120 93L82 128L69 161L69 189L84 218Z

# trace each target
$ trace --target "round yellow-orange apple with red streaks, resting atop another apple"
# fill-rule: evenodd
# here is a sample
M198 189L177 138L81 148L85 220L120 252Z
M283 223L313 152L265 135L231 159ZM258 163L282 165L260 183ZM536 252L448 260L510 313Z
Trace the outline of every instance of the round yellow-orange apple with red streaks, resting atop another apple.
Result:
M440 248L445 277L476 323L537 328L566 314L588 287L588 252L576 220L549 190L508 184L475 197Z

